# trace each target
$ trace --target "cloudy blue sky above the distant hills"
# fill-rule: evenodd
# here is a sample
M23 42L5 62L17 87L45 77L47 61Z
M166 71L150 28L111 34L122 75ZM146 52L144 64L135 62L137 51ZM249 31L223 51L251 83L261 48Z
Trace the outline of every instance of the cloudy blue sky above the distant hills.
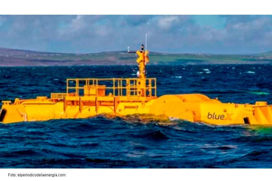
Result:
M61 53L272 51L269 15L0 15L0 47Z

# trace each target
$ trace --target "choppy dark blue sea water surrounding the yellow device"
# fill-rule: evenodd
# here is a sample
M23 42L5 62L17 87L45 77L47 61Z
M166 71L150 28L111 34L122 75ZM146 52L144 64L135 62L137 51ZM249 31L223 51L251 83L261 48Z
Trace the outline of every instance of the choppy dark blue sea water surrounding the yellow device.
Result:
M209 70L204 70L209 69ZM272 104L272 65L148 66L158 95ZM2 67L1 100L64 92L66 78L135 77L136 66ZM253 73L254 72L254 73ZM271 168L272 126L131 117L0 124L1 168Z

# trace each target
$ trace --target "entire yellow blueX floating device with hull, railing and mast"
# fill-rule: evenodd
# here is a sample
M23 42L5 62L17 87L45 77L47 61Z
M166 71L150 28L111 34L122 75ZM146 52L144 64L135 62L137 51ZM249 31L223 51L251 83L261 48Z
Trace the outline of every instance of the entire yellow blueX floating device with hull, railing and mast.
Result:
M156 78L146 77L148 51L136 53L137 78L67 79L66 93L51 93L51 98L2 101L1 123L52 119L88 118L99 114L167 116L192 122L217 125L272 125L272 105L222 103L202 94L157 97Z

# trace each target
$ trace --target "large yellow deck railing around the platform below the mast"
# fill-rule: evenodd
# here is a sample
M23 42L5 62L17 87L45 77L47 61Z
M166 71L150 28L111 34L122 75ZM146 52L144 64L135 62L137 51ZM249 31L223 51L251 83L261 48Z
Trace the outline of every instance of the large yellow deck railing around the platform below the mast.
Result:
M67 79L67 94L75 96L157 96L156 78Z

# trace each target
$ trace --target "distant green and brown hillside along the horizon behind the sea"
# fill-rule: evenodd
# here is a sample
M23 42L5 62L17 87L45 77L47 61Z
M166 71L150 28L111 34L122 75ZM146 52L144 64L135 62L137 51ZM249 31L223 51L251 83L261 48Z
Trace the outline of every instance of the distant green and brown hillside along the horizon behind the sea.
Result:
M126 51L73 54L0 48L0 66L136 65ZM150 64L272 63L272 51L256 55L172 54L150 52Z

